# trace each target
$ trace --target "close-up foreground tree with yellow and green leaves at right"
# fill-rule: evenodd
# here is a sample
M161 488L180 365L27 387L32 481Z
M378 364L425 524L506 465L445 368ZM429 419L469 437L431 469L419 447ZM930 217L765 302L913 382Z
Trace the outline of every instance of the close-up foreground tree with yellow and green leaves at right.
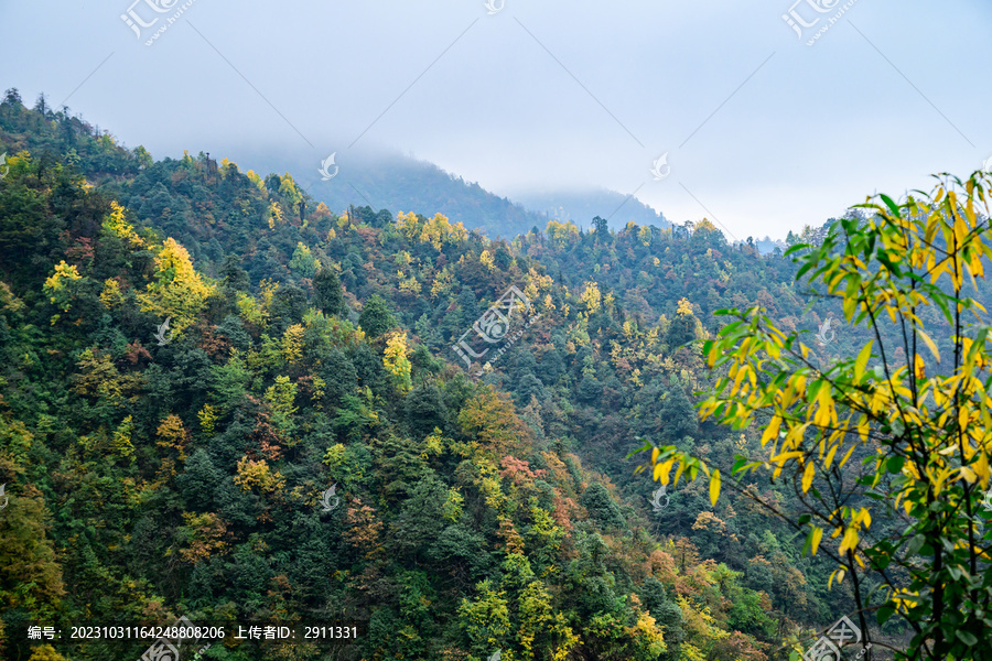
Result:
M840 304L854 343L847 357L816 359L799 332L777 328L761 307L720 311L733 321L703 345L719 380L700 411L762 432L758 456L738 454L732 473L747 481L766 473L795 491L798 511L762 505L806 534L806 552L835 562L828 587L850 577L860 644L872 642L874 613L913 631L897 659L988 659L992 336L982 301L992 175L935 178L930 192L856 205L867 215L786 253L813 300ZM821 327L824 340L833 335ZM715 502L718 470L675 446L641 449L662 484L673 466L676 481L709 475ZM759 499L741 484L732 486Z

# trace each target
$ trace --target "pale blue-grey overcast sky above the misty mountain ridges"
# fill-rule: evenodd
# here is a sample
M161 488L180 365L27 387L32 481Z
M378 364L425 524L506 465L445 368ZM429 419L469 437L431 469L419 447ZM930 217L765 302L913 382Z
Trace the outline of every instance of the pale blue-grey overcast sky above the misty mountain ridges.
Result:
M388 148L511 198L635 193L729 238L992 155L984 0L489 1L0 0L0 85L157 159L345 170Z

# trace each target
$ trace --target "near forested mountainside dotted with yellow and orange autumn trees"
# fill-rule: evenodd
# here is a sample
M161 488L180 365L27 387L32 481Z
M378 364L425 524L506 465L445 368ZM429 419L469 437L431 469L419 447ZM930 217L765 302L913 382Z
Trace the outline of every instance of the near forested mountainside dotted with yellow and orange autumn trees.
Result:
M138 658L26 627L185 615L356 622L339 659L759 661L853 608L752 500L693 481L653 508L626 458L638 437L721 466L762 446L693 408L712 379L693 340L722 307L831 319L817 359L850 355L861 336L807 310L780 252L704 219L492 240L467 218L502 212L474 194L462 221L331 208L291 174L155 162L14 91L0 151L6 658ZM476 377L452 346L511 286L540 316Z

